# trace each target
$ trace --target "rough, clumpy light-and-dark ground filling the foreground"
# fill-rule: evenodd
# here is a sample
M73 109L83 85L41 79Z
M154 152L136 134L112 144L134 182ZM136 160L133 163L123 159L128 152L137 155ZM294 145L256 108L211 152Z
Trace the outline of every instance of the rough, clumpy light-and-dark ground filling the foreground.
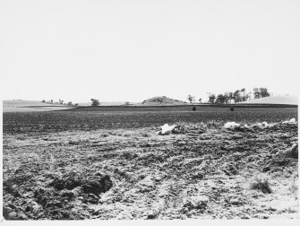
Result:
M297 218L297 124L4 134L6 219Z

